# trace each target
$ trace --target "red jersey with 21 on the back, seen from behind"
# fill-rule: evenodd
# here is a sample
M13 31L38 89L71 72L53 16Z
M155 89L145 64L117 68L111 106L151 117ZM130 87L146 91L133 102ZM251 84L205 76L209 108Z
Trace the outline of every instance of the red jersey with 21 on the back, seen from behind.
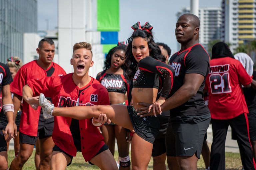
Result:
M243 65L230 57L213 59L206 78L209 92L208 107L213 119L231 119L248 113L242 85L249 85L252 78Z

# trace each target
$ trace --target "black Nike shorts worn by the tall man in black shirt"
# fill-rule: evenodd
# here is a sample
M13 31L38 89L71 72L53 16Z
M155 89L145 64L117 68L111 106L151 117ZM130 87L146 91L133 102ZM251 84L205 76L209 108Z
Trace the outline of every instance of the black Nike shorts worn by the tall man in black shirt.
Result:
M167 156L193 156L200 159L211 114L177 116L169 119L166 132Z

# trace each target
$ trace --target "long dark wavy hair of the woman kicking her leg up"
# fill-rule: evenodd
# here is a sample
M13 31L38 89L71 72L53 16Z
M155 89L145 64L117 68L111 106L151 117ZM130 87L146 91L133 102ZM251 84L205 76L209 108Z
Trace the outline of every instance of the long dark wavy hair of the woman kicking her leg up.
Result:
M148 48L151 49L151 51L149 52L149 55L152 58L165 63L165 57L162 55L161 50L158 47L158 45L156 45L156 43L154 42L153 37L147 35L142 30L136 30L133 32L132 36L127 39L128 46L127 46L127 51L125 53L126 61L124 63L124 66L125 66L125 70L126 70L127 77L129 80L133 79L133 77L137 71L137 66L138 66L138 63L132 54L132 41L136 37L144 38L145 41L147 41Z

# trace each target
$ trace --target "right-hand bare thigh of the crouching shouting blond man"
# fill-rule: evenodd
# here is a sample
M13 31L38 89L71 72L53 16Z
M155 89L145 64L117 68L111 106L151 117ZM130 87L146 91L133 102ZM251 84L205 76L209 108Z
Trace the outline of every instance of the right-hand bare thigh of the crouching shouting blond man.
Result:
M118 170L116 161L109 149L94 156L90 162L102 170Z

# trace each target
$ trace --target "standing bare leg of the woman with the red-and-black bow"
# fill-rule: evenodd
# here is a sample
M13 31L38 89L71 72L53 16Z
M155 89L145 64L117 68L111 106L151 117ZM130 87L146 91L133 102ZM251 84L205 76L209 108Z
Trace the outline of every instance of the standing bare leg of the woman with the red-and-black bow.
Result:
M153 144L142 139L136 133L132 137L132 169L146 170L151 158ZM142 159L143 158L143 159Z

